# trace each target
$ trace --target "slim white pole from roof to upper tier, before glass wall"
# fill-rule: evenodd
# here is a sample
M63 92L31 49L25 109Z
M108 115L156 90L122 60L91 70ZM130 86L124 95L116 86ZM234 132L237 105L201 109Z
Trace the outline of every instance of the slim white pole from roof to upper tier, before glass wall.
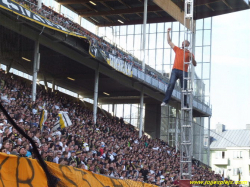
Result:
M145 71L146 61L146 24L147 24L148 0L144 0L144 14L143 14L143 61L142 71Z

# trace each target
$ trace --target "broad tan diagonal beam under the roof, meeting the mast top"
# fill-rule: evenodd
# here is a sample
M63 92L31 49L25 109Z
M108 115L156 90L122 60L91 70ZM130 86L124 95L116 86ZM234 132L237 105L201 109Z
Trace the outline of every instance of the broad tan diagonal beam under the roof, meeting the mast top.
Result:
M165 10L170 16L172 16L176 21L179 21L184 25L184 12L173 3L171 0L153 0L155 4ZM190 29L189 22L187 22L187 28Z

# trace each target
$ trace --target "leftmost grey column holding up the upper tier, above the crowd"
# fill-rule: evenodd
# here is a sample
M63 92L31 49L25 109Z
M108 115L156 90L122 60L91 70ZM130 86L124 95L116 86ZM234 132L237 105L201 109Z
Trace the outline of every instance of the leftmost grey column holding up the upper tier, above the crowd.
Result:
M34 62L33 62L32 101L36 100L36 81L37 81L37 72L39 71L39 64L40 64L39 42L35 41Z

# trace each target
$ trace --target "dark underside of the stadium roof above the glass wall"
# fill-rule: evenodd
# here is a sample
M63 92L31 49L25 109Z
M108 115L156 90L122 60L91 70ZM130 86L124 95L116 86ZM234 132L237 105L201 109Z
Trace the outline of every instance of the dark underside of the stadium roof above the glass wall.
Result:
M143 23L144 0L56 1L97 26ZM184 0L148 0L147 9L147 23L172 22L177 20L177 18L173 18L175 16L171 16L173 15L172 13L183 13ZM249 9L249 0L194 0L194 19L245 9Z

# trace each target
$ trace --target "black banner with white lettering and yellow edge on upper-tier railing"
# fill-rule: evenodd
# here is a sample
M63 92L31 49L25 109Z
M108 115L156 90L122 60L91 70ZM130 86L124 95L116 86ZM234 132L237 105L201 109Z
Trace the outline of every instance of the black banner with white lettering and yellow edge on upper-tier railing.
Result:
M33 21L35 23L38 23L42 26L48 27L50 29L54 29L60 32L63 32L68 35L77 36L80 38L86 38L85 36L80 35L76 32L71 32L67 30L66 28L53 23L52 21L46 19L45 17L38 15L37 13L29 10L28 8L16 3L15 1L11 0L0 0L0 8L3 8L5 10L8 10L10 12L13 12L14 14L18 16L22 16L30 21Z

